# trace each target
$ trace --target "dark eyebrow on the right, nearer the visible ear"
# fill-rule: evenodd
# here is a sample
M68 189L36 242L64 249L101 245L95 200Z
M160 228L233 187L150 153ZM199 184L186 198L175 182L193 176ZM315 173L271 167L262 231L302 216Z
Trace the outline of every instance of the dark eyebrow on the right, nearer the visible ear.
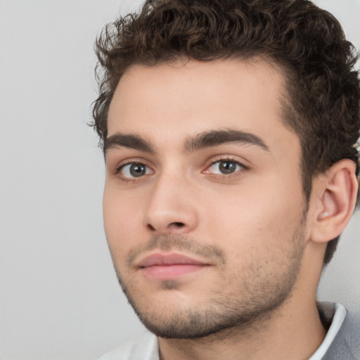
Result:
M189 153L203 148L219 146L225 143L241 143L244 145L255 145L263 150L269 151L269 147L255 134L245 131L225 129L205 131L185 143L185 150Z

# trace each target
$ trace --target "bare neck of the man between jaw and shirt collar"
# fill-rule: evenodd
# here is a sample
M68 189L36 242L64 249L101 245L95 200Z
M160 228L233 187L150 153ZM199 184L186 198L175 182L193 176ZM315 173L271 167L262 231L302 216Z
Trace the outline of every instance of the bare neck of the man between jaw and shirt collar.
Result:
M296 304L294 297L257 323L229 328L200 339L159 338L160 360L309 359L326 335L316 301ZM300 306L299 306L300 305Z

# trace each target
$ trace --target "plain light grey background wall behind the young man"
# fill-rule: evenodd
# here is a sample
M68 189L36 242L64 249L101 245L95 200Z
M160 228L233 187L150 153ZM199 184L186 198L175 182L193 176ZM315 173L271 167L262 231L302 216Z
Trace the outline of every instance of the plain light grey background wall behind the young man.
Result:
M93 44L139 0L0 0L0 358L94 359L139 331L103 233L104 166L86 126ZM360 0L316 4L360 48ZM321 299L360 319L360 216L321 281ZM360 326L358 326L360 331Z

